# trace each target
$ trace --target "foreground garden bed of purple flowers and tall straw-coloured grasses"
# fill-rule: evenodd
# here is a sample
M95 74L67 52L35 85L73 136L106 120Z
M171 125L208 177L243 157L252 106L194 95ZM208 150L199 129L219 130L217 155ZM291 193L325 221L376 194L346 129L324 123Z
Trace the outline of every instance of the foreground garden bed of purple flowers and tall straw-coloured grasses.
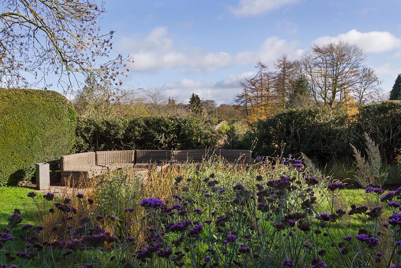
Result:
M6 239L1 262L21 267L400 264L400 189L347 189L303 171L295 159L250 167L208 162L198 169L152 173L146 183L126 183L127 176L107 174L93 191L63 199L29 193L26 200L32 197L37 209L28 219L43 229L23 225L13 214L3 236L14 239ZM30 246L18 253L13 246L18 241ZM16 259L8 261L6 252Z

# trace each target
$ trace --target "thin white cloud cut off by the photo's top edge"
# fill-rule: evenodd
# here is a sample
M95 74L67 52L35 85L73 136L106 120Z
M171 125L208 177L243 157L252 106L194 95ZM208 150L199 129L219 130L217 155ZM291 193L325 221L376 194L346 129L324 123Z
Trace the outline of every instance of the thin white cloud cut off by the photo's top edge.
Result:
M239 0L238 7L231 7L230 11L237 16L246 17L263 14L297 2L299 0Z

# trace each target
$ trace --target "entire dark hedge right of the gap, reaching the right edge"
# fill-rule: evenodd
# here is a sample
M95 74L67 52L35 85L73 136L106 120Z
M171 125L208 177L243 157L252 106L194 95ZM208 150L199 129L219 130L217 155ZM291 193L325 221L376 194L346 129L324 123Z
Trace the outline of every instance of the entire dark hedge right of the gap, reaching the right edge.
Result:
M350 143L363 151L365 132L379 145L387 163L399 160L401 101L365 105L354 116L320 108L281 111L251 125L242 139L231 143L231 148L249 148L256 138L253 155L273 156L284 148L285 156L302 152L320 163L353 161Z

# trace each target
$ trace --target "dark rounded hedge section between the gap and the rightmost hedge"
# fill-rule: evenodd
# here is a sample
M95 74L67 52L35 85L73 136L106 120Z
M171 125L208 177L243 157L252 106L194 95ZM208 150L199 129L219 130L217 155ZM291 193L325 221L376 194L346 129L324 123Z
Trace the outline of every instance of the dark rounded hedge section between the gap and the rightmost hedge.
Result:
M257 155L284 156L301 153L327 162L343 157L347 142L347 118L342 111L319 108L288 109L251 126L244 139L250 143L257 138Z

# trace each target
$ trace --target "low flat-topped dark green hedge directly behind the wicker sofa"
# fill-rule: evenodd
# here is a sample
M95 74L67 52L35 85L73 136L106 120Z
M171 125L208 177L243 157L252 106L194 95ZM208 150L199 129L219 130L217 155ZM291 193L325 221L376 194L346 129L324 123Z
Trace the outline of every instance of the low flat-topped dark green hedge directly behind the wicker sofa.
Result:
M196 117L79 118L75 151L205 149L222 138L216 122Z

